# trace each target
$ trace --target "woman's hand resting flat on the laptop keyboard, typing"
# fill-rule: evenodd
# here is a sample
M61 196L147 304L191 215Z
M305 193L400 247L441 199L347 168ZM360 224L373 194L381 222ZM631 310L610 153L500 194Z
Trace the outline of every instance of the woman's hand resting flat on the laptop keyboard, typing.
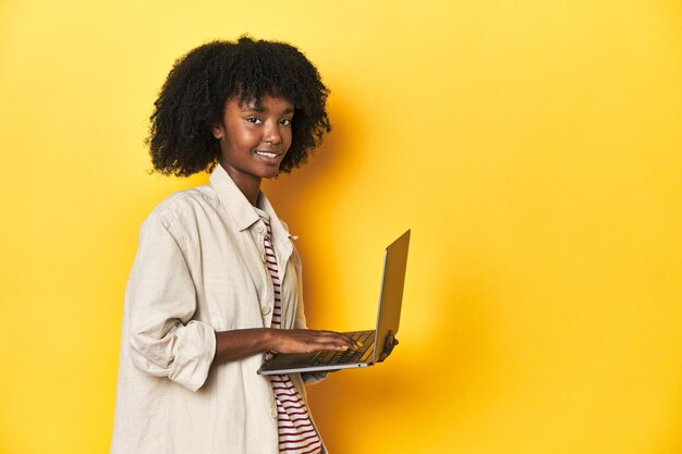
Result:
M313 353L320 349L357 349L349 336L333 331L316 330L272 330L269 351L272 353Z

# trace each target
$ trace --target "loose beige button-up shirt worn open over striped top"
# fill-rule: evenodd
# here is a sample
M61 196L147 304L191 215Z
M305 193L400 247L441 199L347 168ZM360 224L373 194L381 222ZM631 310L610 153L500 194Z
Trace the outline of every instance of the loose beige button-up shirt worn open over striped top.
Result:
M301 261L265 195L282 282L282 328L304 328ZM112 454L275 454L263 354L211 366L216 331L270 326L265 225L218 165L210 184L149 214L125 293ZM303 381L291 376L305 398Z

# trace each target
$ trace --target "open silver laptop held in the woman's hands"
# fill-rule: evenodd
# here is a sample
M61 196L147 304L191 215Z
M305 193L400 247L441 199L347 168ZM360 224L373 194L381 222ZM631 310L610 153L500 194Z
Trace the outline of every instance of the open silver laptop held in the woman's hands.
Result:
M360 349L294 354L280 353L264 364L258 369L258 373L271 376L292 372L316 372L375 365L386 348L388 338L395 335L400 327L400 308L403 299L409 247L410 230L400 235L398 240L386 248L376 329L344 333L358 344L362 344Z

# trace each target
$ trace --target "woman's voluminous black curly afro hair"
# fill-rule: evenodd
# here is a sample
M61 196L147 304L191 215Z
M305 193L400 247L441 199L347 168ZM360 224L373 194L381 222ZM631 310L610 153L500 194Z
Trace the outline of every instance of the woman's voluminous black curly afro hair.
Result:
M300 167L331 131L329 89L295 47L242 36L199 46L175 61L149 118L154 169L176 176L211 171L220 157L211 127L222 121L226 101L258 103L264 96L294 105L292 143L280 170Z

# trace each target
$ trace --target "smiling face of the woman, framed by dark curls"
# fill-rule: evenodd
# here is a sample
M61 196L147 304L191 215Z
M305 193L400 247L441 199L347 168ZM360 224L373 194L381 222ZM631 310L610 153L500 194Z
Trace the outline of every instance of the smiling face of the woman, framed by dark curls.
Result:
M242 184L277 176L291 146L293 114L294 106L284 98L264 96L259 106L226 102L222 123L212 134L220 142L220 164L242 191Z

